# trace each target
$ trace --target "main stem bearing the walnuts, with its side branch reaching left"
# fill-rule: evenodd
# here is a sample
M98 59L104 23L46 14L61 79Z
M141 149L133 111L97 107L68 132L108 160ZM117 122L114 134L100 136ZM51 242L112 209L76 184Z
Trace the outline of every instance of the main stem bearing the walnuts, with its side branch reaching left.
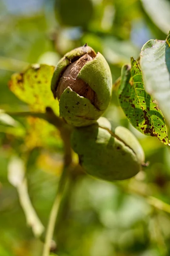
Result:
M23 116L23 117L34 116L37 118L45 119L46 121L54 125L60 131L60 134L61 134L61 138L64 144L64 150L65 150L64 168L59 180L57 195L56 195L56 198L54 199L54 204L50 212L48 227L45 235L45 244L44 244L44 249L42 253L42 256L49 256L56 219L58 217L59 207L62 201L62 195L65 189L65 185L67 183L68 172L70 171L69 169L72 163L72 152L71 152L71 145L70 145L71 127L67 125L62 118L56 116L53 110L49 107L46 108L46 113L39 113L39 112L16 112L16 113L6 112L6 113L10 116Z

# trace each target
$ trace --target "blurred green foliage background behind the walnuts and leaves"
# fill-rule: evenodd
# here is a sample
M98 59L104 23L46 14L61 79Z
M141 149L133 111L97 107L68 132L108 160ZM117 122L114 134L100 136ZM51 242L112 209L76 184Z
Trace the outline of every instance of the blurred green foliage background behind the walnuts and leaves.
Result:
M122 64L138 58L148 40L165 40L169 29L169 0L0 0L0 108L28 111L8 81L31 63L56 65L66 52L88 43L107 59L114 83ZM170 150L130 125L116 90L105 116L113 127L123 125L136 135L150 165L115 183L75 174L55 228L53 253L169 256ZM62 156L58 131L45 121L0 116L0 256L42 255L26 202L29 195L46 227ZM26 190L18 186L23 174Z

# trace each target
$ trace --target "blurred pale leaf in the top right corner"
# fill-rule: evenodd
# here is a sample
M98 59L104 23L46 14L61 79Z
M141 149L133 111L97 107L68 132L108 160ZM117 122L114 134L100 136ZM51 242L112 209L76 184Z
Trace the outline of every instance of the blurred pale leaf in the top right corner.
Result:
M141 0L141 2L156 26L167 34L170 29L170 2L167 0Z

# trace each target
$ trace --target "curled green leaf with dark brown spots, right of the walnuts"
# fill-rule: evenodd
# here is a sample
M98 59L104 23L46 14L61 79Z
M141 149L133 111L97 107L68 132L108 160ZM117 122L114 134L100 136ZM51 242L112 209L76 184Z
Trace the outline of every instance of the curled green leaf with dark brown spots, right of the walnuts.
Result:
M131 68L122 67L122 79L118 90L119 102L131 124L140 132L156 136L168 145L167 128L161 111L144 90L142 71L131 58Z

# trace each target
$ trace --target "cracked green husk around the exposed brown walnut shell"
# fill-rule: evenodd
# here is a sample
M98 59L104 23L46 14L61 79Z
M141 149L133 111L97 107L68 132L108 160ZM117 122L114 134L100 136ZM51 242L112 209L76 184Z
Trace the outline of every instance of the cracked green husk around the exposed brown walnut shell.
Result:
M68 124L78 127L93 124L108 108L112 93L112 77L107 61L101 53L96 54L91 47L79 47L65 54L59 61L51 81L51 90L56 98L62 73L72 62L86 53L91 54L93 59L85 63L77 79L83 80L94 91L94 104L89 99L79 96L70 87L67 87L59 98L60 116Z

